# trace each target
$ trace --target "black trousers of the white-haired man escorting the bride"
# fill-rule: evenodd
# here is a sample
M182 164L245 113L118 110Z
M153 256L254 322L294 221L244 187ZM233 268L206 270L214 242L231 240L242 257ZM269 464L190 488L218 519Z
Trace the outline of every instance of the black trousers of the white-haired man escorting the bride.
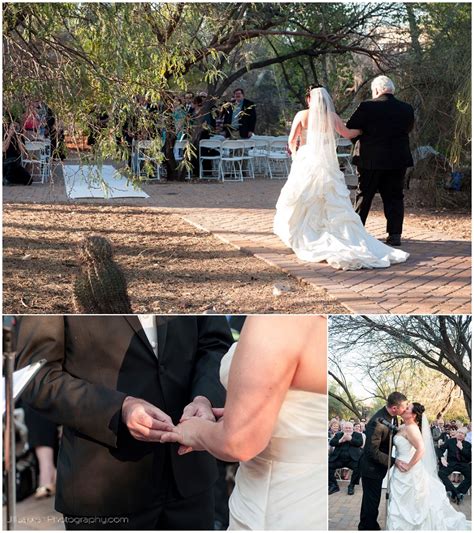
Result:
M356 191L355 210L365 225L372 200L377 192L383 202L387 233L401 235L403 229L403 186L406 168L374 170L357 168L359 183Z

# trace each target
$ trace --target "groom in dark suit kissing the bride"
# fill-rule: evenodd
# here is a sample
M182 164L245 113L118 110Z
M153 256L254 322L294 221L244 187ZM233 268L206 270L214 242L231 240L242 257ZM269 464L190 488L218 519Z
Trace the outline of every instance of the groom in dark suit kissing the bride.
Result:
M364 453L359 463L363 489L359 530L380 529L377 517L383 479L394 462L400 469L403 469L405 464L398 459L394 461L390 456L391 430L378 422L378 419L383 418L389 424L398 426L397 416L402 415L407 406L408 402L403 394L392 392L387 398L387 405L377 411L367 423Z

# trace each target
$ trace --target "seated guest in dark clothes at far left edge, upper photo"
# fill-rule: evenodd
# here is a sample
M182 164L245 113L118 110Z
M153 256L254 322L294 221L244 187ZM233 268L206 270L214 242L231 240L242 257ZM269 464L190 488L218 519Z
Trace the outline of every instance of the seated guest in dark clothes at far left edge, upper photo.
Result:
M4 185L31 185L30 172L21 164L21 155L27 156L20 127L8 118L3 121L2 170Z

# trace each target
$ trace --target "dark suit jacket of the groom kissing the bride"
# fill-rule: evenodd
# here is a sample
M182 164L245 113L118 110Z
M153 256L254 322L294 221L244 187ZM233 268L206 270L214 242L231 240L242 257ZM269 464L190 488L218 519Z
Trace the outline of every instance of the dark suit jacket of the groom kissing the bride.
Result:
M372 479L383 479L387 473L389 464L389 436L390 432L380 422L378 418L385 418L387 422L394 419L398 426L397 417L392 417L385 407L377 411L365 426L365 446L364 453L360 459L360 471L363 477ZM394 463L393 457L390 464Z

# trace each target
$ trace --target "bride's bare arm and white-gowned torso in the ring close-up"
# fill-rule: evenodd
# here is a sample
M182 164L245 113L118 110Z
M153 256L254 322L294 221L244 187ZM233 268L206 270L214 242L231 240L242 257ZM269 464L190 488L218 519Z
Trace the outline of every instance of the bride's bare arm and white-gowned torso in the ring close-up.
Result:
M162 437L240 461L229 529L327 529L326 365L324 317L248 317L221 363L225 414Z

